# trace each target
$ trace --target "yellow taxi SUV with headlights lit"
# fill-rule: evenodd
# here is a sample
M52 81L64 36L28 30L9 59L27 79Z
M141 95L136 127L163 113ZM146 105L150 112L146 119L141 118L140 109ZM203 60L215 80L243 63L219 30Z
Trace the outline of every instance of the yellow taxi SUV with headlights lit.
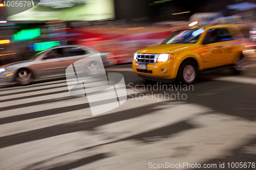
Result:
M186 27L175 31L161 44L134 54L133 70L145 80L193 84L196 76L216 68L244 69L244 44L249 40L246 25Z

